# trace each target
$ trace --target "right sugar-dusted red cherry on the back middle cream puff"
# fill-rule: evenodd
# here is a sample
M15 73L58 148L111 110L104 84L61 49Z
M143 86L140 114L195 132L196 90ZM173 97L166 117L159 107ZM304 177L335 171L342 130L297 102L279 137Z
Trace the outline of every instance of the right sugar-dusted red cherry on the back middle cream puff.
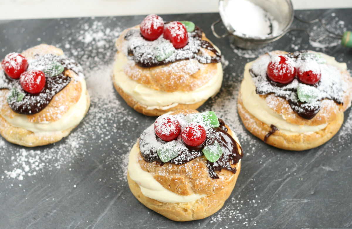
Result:
M186 27L180 21L171 21L164 27L164 38L170 40L175 49L183 48L188 43Z

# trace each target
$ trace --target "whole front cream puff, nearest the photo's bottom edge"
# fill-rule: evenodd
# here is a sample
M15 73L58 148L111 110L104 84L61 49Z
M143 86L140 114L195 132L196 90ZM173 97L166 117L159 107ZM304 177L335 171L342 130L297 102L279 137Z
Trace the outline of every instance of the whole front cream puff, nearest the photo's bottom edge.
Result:
M214 112L159 116L132 147L127 181L133 195L174 221L218 211L240 172L242 148Z

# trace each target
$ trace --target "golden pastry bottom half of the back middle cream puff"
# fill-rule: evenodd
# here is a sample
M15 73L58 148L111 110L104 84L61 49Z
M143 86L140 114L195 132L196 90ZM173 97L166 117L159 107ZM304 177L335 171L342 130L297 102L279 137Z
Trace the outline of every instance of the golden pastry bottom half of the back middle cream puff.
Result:
M187 109L197 109L200 106L202 106L203 103L205 103L205 101L207 100L201 100L199 102L196 103L192 103L192 104L178 104L175 107L171 107L169 109L147 109L146 106L143 106L142 104L138 103L137 100L135 100L132 96L127 95L116 83L114 80L114 76L113 76L113 82L114 82L114 86L115 89L118 91L118 93L120 94L120 96L126 101L126 103L128 104L128 106L132 107L134 110L136 110L139 113L142 113L144 115L147 116L160 116L163 115L167 112L170 111L177 111L177 110L187 110Z

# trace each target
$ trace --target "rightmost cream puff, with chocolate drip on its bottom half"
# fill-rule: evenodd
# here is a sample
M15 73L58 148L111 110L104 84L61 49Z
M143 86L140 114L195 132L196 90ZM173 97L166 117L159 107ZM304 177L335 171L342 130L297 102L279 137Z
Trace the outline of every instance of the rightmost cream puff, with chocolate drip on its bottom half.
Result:
M269 145L307 150L338 132L351 100L345 63L314 51L272 51L246 64L238 113Z

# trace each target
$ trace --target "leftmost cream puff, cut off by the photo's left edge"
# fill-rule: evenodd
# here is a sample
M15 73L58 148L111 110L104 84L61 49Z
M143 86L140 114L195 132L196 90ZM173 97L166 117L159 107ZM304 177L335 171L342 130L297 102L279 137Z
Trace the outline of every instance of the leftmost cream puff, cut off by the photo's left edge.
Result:
M81 122L89 104L81 65L55 46L10 53L1 62L0 134L9 142L57 142Z

